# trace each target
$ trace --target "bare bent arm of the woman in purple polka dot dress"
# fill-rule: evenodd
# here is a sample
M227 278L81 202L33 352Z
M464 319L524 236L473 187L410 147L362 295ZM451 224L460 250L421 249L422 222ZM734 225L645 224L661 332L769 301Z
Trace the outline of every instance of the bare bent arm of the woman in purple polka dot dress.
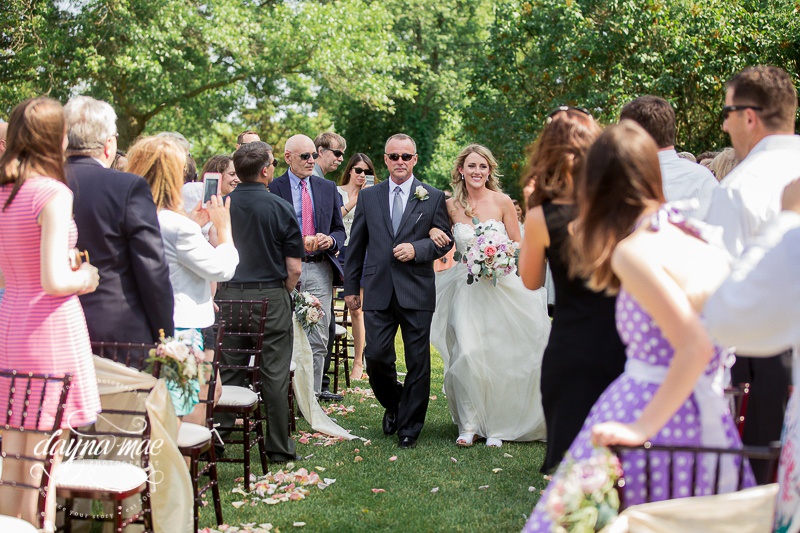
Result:
M662 240L658 241L659 246ZM592 428L596 444L636 446L655 436L689 397L714 355L714 345L681 287L667 274L653 244L622 241L612 268L625 290L642 306L675 350L667 375L638 420L606 422Z

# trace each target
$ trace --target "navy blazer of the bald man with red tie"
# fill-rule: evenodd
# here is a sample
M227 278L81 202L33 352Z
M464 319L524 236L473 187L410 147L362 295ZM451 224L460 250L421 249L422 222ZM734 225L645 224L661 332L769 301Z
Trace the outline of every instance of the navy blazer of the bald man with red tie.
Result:
M336 259L339 247L344 244L347 234L342 222L342 197L336 190L336 184L318 176L310 176L311 195L314 197L314 226L317 233L330 235L336 241L334 246L328 248L323 253L328 257L328 262L333 270L333 283L342 283L342 267ZM292 203L292 184L289 181L289 173L283 175L269 184L269 190L277 194L290 205ZM292 208L294 213L294 208Z

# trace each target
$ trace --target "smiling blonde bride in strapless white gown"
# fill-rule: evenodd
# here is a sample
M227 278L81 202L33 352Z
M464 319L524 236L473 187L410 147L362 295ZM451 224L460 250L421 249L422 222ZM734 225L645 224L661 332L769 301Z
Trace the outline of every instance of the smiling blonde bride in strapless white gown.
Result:
M516 242L519 224L511 198L500 192L497 162L488 148L471 144L452 171L447 210L457 251L475 240L473 218L490 223ZM446 239L433 231L434 241ZM531 291L515 274L467 284L467 265L436 274L436 312L431 343L444 360L444 392L458 424L458 446L478 437L487 446L503 440L545 438L539 377L550 333L547 295Z

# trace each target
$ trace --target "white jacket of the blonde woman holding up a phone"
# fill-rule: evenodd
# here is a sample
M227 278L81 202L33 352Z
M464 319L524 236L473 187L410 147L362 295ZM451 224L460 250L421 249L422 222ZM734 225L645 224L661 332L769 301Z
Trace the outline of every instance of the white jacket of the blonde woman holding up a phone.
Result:
M200 226L168 209L158 212L169 280L175 296L176 328L205 328L214 323L211 281L228 281L236 272L239 252L231 243L211 246Z

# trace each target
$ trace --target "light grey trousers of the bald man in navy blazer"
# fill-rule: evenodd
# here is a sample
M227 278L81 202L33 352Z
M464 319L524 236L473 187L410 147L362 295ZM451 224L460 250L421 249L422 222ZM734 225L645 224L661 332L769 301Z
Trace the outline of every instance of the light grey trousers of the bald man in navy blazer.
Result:
M303 263L300 275L300 290L308 291L322 303L325 316L311 328L308 342L314 356L314 393L319 396L322 391L322 373L325 370L325 358L328 356L328 337L332 320L329 312L333 299L333 270L328 261Z

